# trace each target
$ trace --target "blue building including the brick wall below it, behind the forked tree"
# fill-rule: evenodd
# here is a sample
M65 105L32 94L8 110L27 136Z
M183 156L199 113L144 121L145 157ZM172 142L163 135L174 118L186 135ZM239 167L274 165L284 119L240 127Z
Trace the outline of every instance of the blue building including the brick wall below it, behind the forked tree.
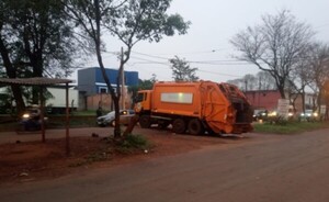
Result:
M105 69L112 87L116 90L117 69ZM125 91L127 87L138 85L138 71L124 71ZM90 67L78 70L78 90L83 94L83 102L80 102L80 109L95 110L102 106L103 110L113 110L111 96L103 79L100 67ZM127 92L125 92L127 94ZM125 108L131 108L132 99L125 97Z

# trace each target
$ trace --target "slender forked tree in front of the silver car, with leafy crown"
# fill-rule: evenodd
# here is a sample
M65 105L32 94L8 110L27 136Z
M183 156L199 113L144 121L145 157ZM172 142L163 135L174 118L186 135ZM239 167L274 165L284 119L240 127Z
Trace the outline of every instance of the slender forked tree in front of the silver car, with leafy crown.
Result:
M168 15L167 10L171 0L67 0L63 1L69 16L76 21L94 47L104 81L110 90L115 109L114 137L121 136L120 98L121 77L116 80L116 92L105 74L102 60L102 34L109 32L126 46L122 50L120 75L125 63L131 57L133 46L139 41L159 42L163 35L171 36L178 32L185 34L189 22L184 22L179 14Z

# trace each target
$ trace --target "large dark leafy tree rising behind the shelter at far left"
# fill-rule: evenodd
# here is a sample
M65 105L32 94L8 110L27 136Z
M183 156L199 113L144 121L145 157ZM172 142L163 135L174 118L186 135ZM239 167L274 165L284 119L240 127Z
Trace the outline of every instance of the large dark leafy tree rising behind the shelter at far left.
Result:
M56 0L1 1L0 52L9 78L68 76L77 53L72 30ZM68 54L69 53L69 54ZM22 90L12 87L16 105ZM33 102L38 102L37 89Z

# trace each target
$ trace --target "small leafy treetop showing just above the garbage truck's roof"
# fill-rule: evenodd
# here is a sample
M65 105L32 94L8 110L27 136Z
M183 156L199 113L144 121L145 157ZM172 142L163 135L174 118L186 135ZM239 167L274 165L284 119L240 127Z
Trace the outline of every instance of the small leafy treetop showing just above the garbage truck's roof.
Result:
M197 68L191 68L190 64L185 59L181 59L178 56L169 59L171 63L172 78L174 81L196 81L198 77L195 76Z

